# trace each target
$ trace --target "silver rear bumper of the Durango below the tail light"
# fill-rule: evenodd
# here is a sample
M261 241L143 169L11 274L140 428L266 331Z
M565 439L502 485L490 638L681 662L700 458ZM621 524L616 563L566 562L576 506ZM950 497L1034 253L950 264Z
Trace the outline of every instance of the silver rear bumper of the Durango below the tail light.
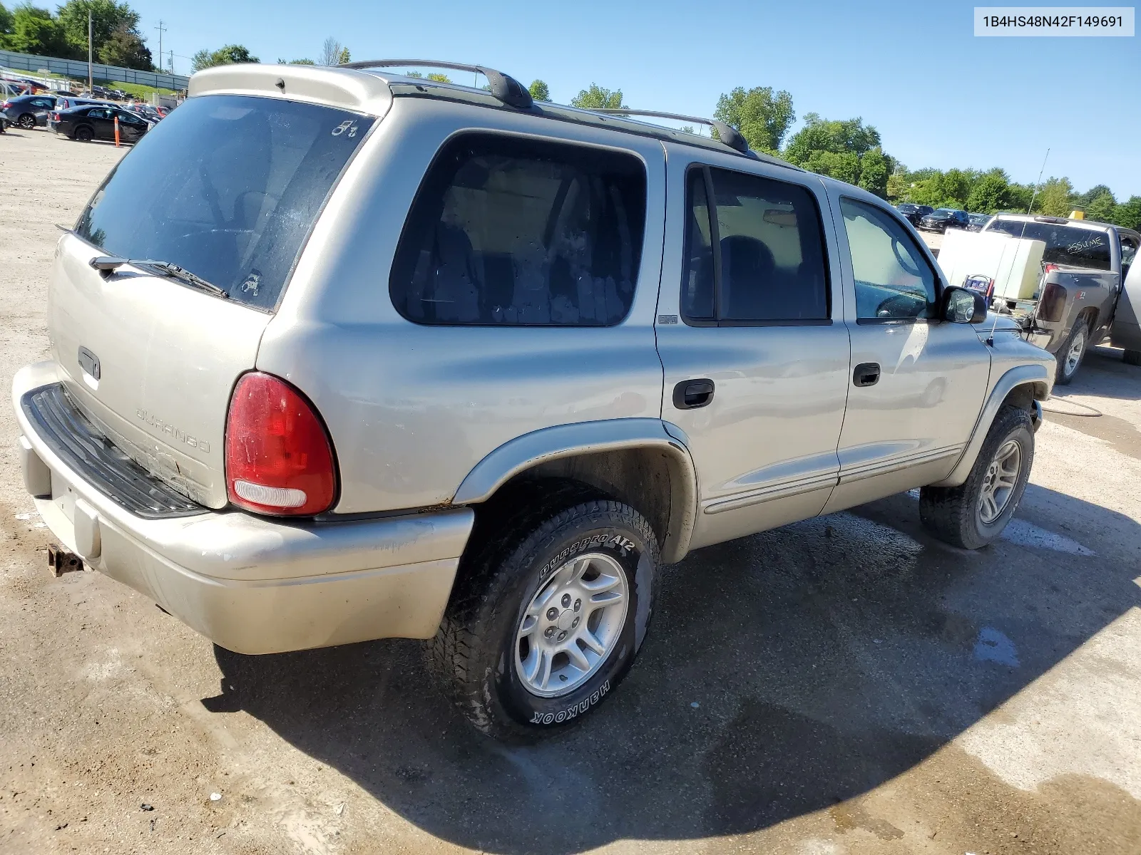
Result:
M240 653L435 634L471 532L470 508L321 524L235 511L143 519L37 433L19 401L54 382L52 363L13 381L21 464L43 521L86 565Z

